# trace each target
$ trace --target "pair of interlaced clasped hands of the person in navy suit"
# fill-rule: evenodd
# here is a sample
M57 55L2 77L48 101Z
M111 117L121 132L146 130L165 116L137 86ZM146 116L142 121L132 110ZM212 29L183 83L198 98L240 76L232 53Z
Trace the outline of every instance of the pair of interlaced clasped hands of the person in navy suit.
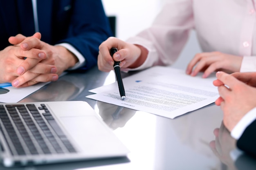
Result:
M0 83L11 82L14 87L26 87L56 81L58 75L75 64L76 60L61 57L72 56L67 49L49 45L40 38L40 33L9 38L13 45L0 51Z

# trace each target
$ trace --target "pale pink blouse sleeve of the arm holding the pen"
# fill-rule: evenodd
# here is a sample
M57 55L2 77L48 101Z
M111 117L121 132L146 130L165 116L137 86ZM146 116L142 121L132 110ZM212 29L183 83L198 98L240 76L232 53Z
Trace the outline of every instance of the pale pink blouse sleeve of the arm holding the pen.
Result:
M127 40L129 43L144 46L149 51L146 61L138 68L122 68L122 71L173 64L186 44L189 31L193 27L191 0L167 2L150 28Z

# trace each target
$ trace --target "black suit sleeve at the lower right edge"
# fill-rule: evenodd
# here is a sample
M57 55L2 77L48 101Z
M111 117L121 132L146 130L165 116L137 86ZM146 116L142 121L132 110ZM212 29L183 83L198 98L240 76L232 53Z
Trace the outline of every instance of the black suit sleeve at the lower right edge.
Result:
M256 120L245 129L237 141L237 146L247 154L256 157Z

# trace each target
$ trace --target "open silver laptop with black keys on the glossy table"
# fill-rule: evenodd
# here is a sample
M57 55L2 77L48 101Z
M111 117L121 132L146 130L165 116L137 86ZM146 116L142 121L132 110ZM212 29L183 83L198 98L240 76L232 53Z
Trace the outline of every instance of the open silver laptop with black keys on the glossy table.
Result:
M6 167L124 157L129 150L87 102L0 104Z

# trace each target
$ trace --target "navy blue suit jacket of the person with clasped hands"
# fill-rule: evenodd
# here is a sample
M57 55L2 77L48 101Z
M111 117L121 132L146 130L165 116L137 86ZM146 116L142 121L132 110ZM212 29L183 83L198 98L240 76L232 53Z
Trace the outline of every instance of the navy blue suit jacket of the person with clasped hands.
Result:
M84 57L83 69L97 64L99 45L112 36L101 0L37 0L41 40L69 43ZM35 33L31 0L0 0L0 50L8 38Z

